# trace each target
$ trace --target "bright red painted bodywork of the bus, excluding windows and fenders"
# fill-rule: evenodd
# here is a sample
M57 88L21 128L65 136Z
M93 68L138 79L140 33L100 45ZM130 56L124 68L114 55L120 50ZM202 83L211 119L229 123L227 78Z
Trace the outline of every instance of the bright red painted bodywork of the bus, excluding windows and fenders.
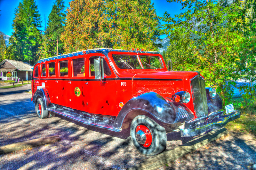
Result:
M196 72L168 72L164 64L164 59L160 54L147 54L141 53L145 56L159 56L163 63L161 69L120 69L116 66L112 54L123 54L123 52L109 52L109 60L103 58L110 70L111 75L104 78L132 78L132 80L107 80L100 83L100 80L94 80L94 76L90 76L89 69L90 63L89 58L92 56L102 56L101 53L90 53L83 54L75 57L61 58L57 60L46 61L35 65L39 68L39 76L34 77L32 82L32 94L34 95L37 86L41 86L45 83L50 97L51 103L60 104L73 109L95 113L103 115L117 116L121 108L119 103L124 104L131 99L133 96L146 92L154 91L163 97L171 97L172 94L178 91L187 91L191 94L190 79L197 75ZM125 53L126 55L134 53ZM137 53L140 55L140 53ZM72 77L72 59L84 58L85 60L85 74L82 77ZM69 74L67 77L59 76L59 62L68 60ZM48 63L55 62L56 77L49 76ZM46 64L46 77L41 77L40 67L41 64ZM113 70L114 69L114 70ZM34 69L35 72L35 69ZM35 75L33 73L33 75ZM134 78L145 79L179 79L182 81L175 80L133 80ZM63 80L65 79L65 80ZM76 79L76 80L74 80ZM87 80L87 81L85 81ZM123 86L122 84L126 84ZM81 95L77 97L74 93L75 88L78 87L81 90ZM185 103L185 106L189 110L194 112L193 101ZM196 116L195 116L196 117Z

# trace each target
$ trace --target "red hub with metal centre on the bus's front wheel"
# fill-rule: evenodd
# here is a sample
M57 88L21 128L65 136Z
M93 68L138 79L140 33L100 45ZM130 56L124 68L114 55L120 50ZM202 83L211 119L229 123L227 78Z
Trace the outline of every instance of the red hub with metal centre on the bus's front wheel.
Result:
M138 125L136 128L136 135L140 135L139 138L141 139L140 142L137 141L145 148L148 148L151 143L152 143L152 135L150 130L148 129L148 127L146 127L145 125ZM145 138L144 140L142 140L142 138ZM143 142L142 142L143 141ZM145 142L144 142L145 141ZM141 143L142 142L142 143Z

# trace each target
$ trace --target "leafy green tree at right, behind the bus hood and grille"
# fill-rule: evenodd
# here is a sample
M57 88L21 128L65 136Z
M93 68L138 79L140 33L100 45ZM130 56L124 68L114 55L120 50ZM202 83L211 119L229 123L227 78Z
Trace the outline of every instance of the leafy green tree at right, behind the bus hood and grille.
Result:
M246 20L242 21L241 17L244 1L176 2L181 3L185 12L176 18L167 12L164 14L163 19L168 22L165 33L171 40L167 58L172 58L174 70L200 71L206 85L214 86L220 92L225 105L233 95L231 86L241 78L239 73L251 76L252 68L255 68L252 60L255 53L248 56L252 50L248 38L240 31L241 23Z

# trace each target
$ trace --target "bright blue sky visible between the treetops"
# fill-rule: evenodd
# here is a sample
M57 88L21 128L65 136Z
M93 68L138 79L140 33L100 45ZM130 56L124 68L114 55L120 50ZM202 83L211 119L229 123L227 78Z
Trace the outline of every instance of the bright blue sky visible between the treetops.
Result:
M14 9L17 8L22 0L0 0L0 31L6 35L12 35L12 20L14 18ZM38 7L38 11L41 14L42 30L44 29L44 16L46 17L46 24L48 16L52 10L52 5L55 0L35 0ZM65 6L69 6L68 3L71 0L65 0ZM168 3L166 0L151 0L154 3L156 14L163 16L164 12L167 11L174 17L175 14L180 13L180 4ZM162 22L163 23L163 22ZM166 35L161 36L161 38Z

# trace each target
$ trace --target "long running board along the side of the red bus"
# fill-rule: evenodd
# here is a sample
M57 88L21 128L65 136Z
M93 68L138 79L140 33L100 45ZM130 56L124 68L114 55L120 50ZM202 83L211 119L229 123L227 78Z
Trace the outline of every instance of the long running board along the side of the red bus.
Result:
M71 112L71 111L67 111L61 108L57 108L57 107L51 107L51 108L47 108L48 111L50 112L54 112L57 113L59 115L65 116L69 119L81 122L85 125L90 125L90 126L94 126L94 127L98 127L98 128L103 128L103 129L107 129L107 130L111 130L114 132L120 132L122 129L118 129L113 127L112 125L112 121L111 120L99 120L97 118L91 118L91 117L87 117L75 112Z

